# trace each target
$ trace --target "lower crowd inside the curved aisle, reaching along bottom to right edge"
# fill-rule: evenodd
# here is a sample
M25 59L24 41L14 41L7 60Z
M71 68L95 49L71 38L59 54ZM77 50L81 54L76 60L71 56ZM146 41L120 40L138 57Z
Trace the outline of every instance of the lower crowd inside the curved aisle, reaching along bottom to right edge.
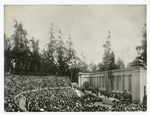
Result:
M144 104L124 104L114 103L112 107L95 105L95 102L102 100L86 95L78 97L76 92L71 89L43 90L26 94L26 108L31 112L96 112L96 111L146 111Z

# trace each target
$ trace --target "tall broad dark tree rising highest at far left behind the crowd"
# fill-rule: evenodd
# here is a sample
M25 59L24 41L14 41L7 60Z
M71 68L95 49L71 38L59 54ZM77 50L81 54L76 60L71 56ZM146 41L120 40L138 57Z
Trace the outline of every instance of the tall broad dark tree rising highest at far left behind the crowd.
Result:
M30 49L28 46L27 31L23 29L23 24L14 20L15 31L11 36L13 39L11 59L15 63L15 72L23 72L28 69Z

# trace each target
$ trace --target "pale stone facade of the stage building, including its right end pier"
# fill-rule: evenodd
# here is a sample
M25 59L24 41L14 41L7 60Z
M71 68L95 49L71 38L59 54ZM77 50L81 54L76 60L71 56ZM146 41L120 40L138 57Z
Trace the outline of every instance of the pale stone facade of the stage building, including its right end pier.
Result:
M106 81L104 77L105 71L100 73L79 73L78 85L79 87L89 86L105 89ZM147 70L140 67L112 70L112 79L107 83L113 85L111 89L113 92L127 90L132 94L134 102L142 102L144 94L147 94Z

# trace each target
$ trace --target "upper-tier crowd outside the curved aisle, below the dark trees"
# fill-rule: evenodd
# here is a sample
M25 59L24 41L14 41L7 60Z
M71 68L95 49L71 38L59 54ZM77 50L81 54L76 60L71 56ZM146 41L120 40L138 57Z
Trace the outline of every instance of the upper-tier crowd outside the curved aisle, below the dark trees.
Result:
M4 76L4 111L21 111L14 98L22 92L54 87L70 87L68 77L58 76Z

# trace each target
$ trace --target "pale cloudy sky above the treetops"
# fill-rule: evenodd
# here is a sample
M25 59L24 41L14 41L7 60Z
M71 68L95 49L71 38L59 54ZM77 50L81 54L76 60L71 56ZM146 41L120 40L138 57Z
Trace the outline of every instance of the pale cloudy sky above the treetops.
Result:
M10 37L13 20L23 24L29 37L38 39L39 47L48 43L51 22L61 29L63 39L71 35L74 49L82 52L87 62L102 62L103 44L111 32L111 49L116 60L127 65L135 59L135 47L140 45L142 28L147 23L145 5L20 5L4 7L4 33Z

